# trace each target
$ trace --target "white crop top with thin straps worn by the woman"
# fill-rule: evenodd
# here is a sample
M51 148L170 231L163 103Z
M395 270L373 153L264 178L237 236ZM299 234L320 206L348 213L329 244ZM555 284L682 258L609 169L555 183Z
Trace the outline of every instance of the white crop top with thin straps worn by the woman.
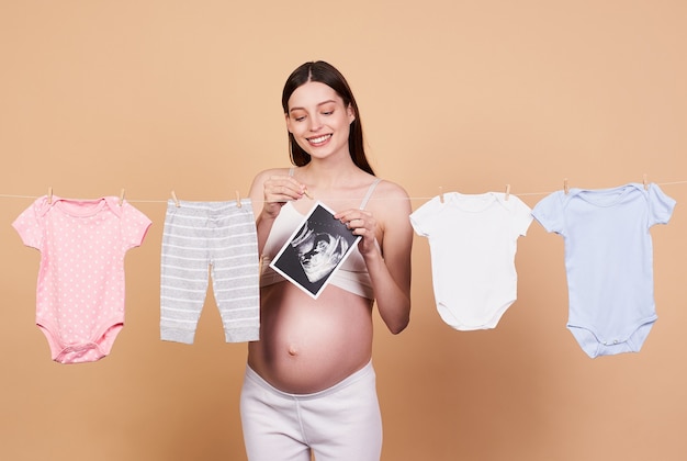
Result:
M289 176L293 176L293 168L289 171ZM360 203L360 210L364 210L379 182L380 179L378 178L370 185L368 193ZM295 228L303 222L304 217L305 216L301 214L291 202L286 202L286 204L282 206L279 216L277 216L272 224L270 235L267 237L264 249L262 250L260 286L267 286L286 280L270 267L270 262L284 246L289 237L291 237ZM374 291L372 290L368 267L358 250L358 246L351 250L351 254L346 258L341 267L331 276L329 284L369 300L374 299Z

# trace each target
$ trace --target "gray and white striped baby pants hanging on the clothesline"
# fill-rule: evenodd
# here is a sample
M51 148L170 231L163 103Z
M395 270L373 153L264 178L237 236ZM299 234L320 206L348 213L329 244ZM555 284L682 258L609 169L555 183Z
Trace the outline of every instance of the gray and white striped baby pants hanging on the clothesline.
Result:
M259 338L256 222L250 199L167 204L160 270L160 338L193 344L209 277L226 342Z

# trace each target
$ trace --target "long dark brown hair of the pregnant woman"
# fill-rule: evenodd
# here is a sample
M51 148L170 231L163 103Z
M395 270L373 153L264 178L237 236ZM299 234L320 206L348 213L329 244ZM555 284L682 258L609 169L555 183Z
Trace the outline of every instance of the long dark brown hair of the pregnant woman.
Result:
M365 148L362 137L362 124L360 123L360 111L358 111L358 103L353 98L346 78L334 66L324 60L317 60L312 63L305 63L299 66L286 79L284 90L282 91L281 104L284 109L284 114L289 114L289 98L300 86L307 83L308 81L317 81L325 83L344 100L345 106L351 106L356 119L350 124L350 134L348 135L348 149L351 155L353 164L363 171L374 176L374 171L365 156ZM307 154L299 143L296 143L292 133L289 133L289 153L291 155L291 162L296 167L302 167L309 164L311 156Z

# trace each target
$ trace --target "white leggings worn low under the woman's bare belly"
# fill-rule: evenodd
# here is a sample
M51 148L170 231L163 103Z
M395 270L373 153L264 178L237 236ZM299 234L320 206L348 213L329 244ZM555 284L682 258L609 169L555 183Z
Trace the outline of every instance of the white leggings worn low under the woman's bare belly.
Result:
M314 394L274 389L250 367L240 397L249 461L379 461L382 417L372 362Z

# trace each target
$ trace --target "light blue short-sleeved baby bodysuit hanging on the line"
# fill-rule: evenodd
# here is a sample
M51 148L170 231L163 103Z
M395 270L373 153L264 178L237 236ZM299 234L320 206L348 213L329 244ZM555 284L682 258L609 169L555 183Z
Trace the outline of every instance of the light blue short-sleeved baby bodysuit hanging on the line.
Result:
M567 328L589 357L640 351L657 318L649 229L667 224L675 203L654 183L629 183L558 191L534 206L565 240Z

